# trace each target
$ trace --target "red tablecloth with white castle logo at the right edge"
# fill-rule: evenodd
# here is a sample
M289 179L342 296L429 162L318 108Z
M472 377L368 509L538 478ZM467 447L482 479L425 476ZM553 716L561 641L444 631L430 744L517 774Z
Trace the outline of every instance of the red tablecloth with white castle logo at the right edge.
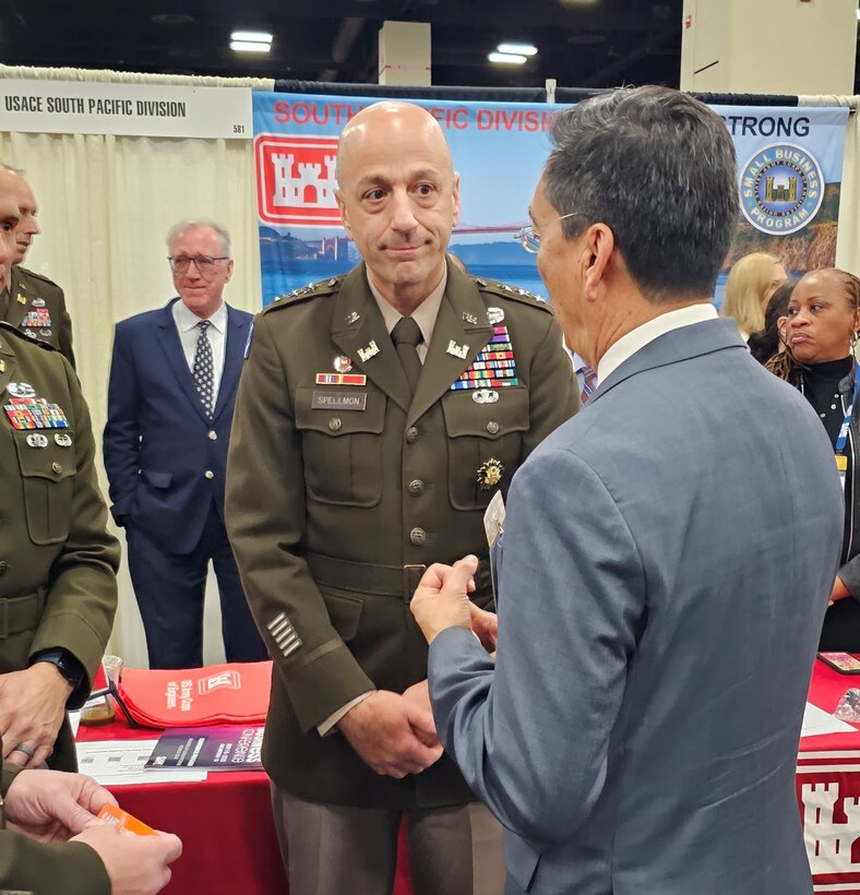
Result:
M810 702L833 712L852 687L860 676L816 661ZM804 737L797 791L815 892L860 895L860 730Z

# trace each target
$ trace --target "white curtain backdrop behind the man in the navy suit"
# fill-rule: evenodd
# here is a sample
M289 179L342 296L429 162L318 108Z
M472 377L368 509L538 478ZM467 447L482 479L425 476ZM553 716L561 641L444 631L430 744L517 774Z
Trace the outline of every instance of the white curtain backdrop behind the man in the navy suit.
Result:
M273 88L273 83L263 79L2 65L0 77ZM802 105L856 108L857 102L858 97L801 97ZM856 274L860 274L859 146L860 120L852 115L848 122L837 264ZM36 193L44 232L36 237L25 265L55 279L65 290L79 373L96 440L100 442L114 324L163 306L174 295L165 235L177 220L214 218L227 227L236 268L226 299L243 310L260 308L251 141L0 132L0 158L25 169ZM104 472L101 481L107 492ZM123 657L128 667L146 666L143 628L124 559L120 609L110 648ZM204 659L212 664L223 658L220 614L211 580Z

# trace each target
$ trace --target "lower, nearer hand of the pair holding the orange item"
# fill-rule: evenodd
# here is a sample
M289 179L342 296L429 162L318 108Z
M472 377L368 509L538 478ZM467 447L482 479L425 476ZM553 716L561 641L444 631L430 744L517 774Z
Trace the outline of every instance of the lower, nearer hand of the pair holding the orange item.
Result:
M72 842L88 845L101 859L111 895L155 895L170 882L168 864L182 854L182 843L170 833L135 836L104 821L93 821Z

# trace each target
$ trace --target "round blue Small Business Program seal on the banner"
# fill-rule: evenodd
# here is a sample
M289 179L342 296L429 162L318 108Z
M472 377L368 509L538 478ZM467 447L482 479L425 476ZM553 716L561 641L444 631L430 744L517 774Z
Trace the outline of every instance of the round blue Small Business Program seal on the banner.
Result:
M824 177L812 153L790 143L760 150L743 167L741 208L757 230L787 236L802 230L821 207Z

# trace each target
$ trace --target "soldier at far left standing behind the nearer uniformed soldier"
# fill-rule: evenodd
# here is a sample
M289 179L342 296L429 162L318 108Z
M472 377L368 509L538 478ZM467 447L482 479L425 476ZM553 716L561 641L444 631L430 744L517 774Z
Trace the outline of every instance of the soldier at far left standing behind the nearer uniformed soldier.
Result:
M62 289L46 276L21 266L33 237L41 232L36 220L36 196L23 175L1 162L0 199L15 202L21 216L12 263L0 283L0 320L59 348L74 367L72 320Z

